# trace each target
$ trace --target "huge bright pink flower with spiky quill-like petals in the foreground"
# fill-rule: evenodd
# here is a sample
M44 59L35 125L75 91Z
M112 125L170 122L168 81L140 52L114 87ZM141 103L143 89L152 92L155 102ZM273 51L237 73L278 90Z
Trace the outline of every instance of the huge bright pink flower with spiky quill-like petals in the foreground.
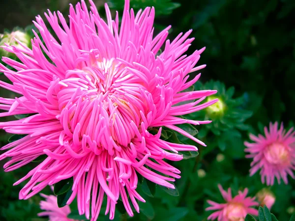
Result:
M45 154L43 162L14 184L29 179L19 198L28 199L47 185L73 177L66 203L77 196L79 214L87 219L91 214L95 221L104 195L110 219L119 197L130 216L130 203L139 212L137 200L145 200L136 192L137 174L174 189L171 182L180 178L180 171L166 160L180 161L178 151L197 148L162 140L161 127L205 146L177 125L209 123L180 115L217 100L200 104L215 90L183 91L200 78L198 74L188 81L189 74L205 67L196 66L205 48L183 55L194 40L187 39L192 30L170 41L169 26L153 37L153 7L135 14L126 0L119 26L118 13L112 20L107 4L105 22L93 1L89 3L90 12L84 0L70 6L69 25L60 12L45 13L57 37L37 16L34 25L40 35L34 32L32 49L19 41L18 47L4 47L21 62L2 58L15 70L1 65L13 84L0 85L21 96L0 98L0 109L7 111L0 116L30 116L0 122L7 133L27 135L2 147L10 150L0 160L11 158L4 165L11 171ZM156 135L148 132L151 127L160 127Z

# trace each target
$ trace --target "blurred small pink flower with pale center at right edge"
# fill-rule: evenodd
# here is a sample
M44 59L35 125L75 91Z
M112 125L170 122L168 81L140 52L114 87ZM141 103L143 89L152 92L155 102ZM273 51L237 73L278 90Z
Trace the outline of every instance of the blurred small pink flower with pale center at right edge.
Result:
M295 131L291 128L285 133L283 124L278 130L278 123L269 124L269 131L265 127L265 136L250 135L250 139L255 143L245 142L247 158L253 158L251 163L250 176L261 168L261 181L267 185L274 184L274 177L278 183L281 177L284 183L288 183L287 175L294 179L295 169Z

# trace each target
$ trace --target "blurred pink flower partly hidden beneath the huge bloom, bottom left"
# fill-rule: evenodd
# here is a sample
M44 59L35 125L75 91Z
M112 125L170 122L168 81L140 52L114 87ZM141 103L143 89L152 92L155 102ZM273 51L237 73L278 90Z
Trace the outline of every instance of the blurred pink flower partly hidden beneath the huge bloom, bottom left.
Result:
M58 198L55 195L45 195L41 193L46 201L40 201L40 208L45 210L45 212L38 213L39 217L48 216L49 221L75 221L73 219L67 218L71 213L71 209L68 205L59 208Z

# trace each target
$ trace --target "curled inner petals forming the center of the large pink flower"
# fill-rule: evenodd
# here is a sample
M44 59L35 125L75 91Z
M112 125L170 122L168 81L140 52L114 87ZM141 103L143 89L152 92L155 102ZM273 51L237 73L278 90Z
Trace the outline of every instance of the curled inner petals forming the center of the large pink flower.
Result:
M85 61L84 61L85 62ZM153 102L143 81L115 58L89 55L65 79L52 82L63 132L59 140L85 152L114 154L141 139L150 124ZM67 144L67 143L66 143Z

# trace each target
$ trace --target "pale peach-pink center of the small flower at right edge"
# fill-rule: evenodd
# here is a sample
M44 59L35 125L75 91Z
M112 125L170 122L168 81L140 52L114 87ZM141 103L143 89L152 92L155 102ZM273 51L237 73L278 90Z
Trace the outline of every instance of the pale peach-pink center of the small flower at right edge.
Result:
M290 164L289 150L280 143L272 143L266 147L264 153L268 163L273 165Z

